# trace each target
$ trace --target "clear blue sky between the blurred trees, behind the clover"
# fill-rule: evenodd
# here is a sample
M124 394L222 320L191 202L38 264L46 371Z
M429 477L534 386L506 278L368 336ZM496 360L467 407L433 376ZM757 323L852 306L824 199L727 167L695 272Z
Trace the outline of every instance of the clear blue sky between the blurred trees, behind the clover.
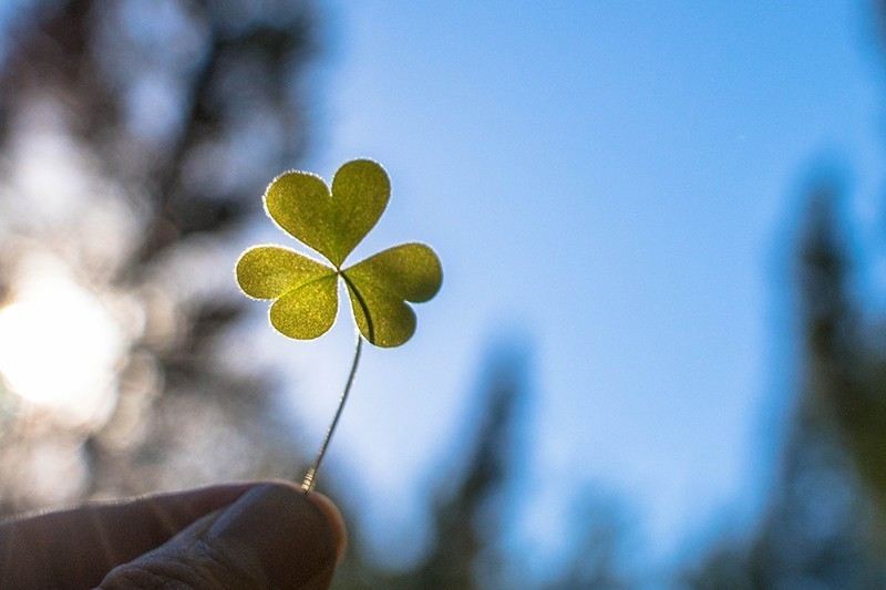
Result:
M753 514L792 384L780 252L802 189L835 166L864 229L883 182L873 8L775 4L324 10L308 164L329 178L381 162L393 196L358 257L419 239L445 273L413 341L367 352L329 458L381 540L420 546L411 519L456 460L502 332L532 350L524 459L544 483L523 511L539 559L588 483L628 503L658 556ZM350 328L295 353L267 338L319 438Z

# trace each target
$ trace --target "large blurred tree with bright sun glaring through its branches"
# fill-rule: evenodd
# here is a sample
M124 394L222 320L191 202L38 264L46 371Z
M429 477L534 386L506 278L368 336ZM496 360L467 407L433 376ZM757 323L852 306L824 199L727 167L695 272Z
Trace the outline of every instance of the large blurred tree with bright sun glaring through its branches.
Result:
M0 79L0 513L300 457L228 272L307 139L309 1L33 0ZM90 372L91 371L91 372Z

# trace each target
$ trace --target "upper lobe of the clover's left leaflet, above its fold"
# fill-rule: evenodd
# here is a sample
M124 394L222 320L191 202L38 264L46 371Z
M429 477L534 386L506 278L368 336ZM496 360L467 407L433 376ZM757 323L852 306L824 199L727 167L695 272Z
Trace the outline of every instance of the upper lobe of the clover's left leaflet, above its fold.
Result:
M257 246L237 261L240 289L256 299L275 299L334 270L279 246Z

